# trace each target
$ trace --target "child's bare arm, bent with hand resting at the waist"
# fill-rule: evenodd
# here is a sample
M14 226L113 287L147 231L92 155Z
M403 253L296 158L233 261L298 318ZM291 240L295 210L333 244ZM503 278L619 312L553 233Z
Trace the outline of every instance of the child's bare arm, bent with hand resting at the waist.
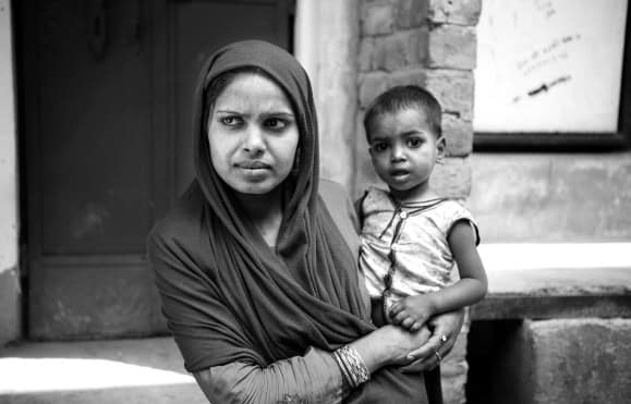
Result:
M484 298L487 289L486 272L471 224L461 220L453 224L448 237L451 254L458 264L460 280L438 292L409 296L392 305L392 322L415 331L430 317L452 311Z

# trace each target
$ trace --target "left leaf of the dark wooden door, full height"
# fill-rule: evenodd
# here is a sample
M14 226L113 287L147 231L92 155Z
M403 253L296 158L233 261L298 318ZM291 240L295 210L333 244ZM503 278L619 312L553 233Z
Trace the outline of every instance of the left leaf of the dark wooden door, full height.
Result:
M17 5L33 339L163 329L145 237L153 182L151 49L139 1Z

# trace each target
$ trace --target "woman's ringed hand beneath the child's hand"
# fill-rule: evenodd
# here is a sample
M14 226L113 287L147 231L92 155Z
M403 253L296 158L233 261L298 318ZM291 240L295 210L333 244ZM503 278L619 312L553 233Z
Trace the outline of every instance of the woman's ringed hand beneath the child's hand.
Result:
M417 360L413 365L414 369L428 370L436 367L453 348L463 321L464 309L430 318L427 321L427 326L432 331L432 335L421 347L414 350L408 356L409 360Z

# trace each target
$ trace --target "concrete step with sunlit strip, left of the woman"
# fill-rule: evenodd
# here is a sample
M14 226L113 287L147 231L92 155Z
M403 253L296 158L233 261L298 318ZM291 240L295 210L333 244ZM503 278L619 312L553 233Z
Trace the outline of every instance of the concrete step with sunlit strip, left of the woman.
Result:
M0 348L1 404L207 403L171 338Z

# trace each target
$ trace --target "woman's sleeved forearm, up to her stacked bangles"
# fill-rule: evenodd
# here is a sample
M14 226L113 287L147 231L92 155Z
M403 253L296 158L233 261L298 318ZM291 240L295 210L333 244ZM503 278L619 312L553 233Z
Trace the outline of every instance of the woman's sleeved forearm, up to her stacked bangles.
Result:
M214 366L195 379L211 403L339 403L345 393L332 355L315 348L265 368Z

